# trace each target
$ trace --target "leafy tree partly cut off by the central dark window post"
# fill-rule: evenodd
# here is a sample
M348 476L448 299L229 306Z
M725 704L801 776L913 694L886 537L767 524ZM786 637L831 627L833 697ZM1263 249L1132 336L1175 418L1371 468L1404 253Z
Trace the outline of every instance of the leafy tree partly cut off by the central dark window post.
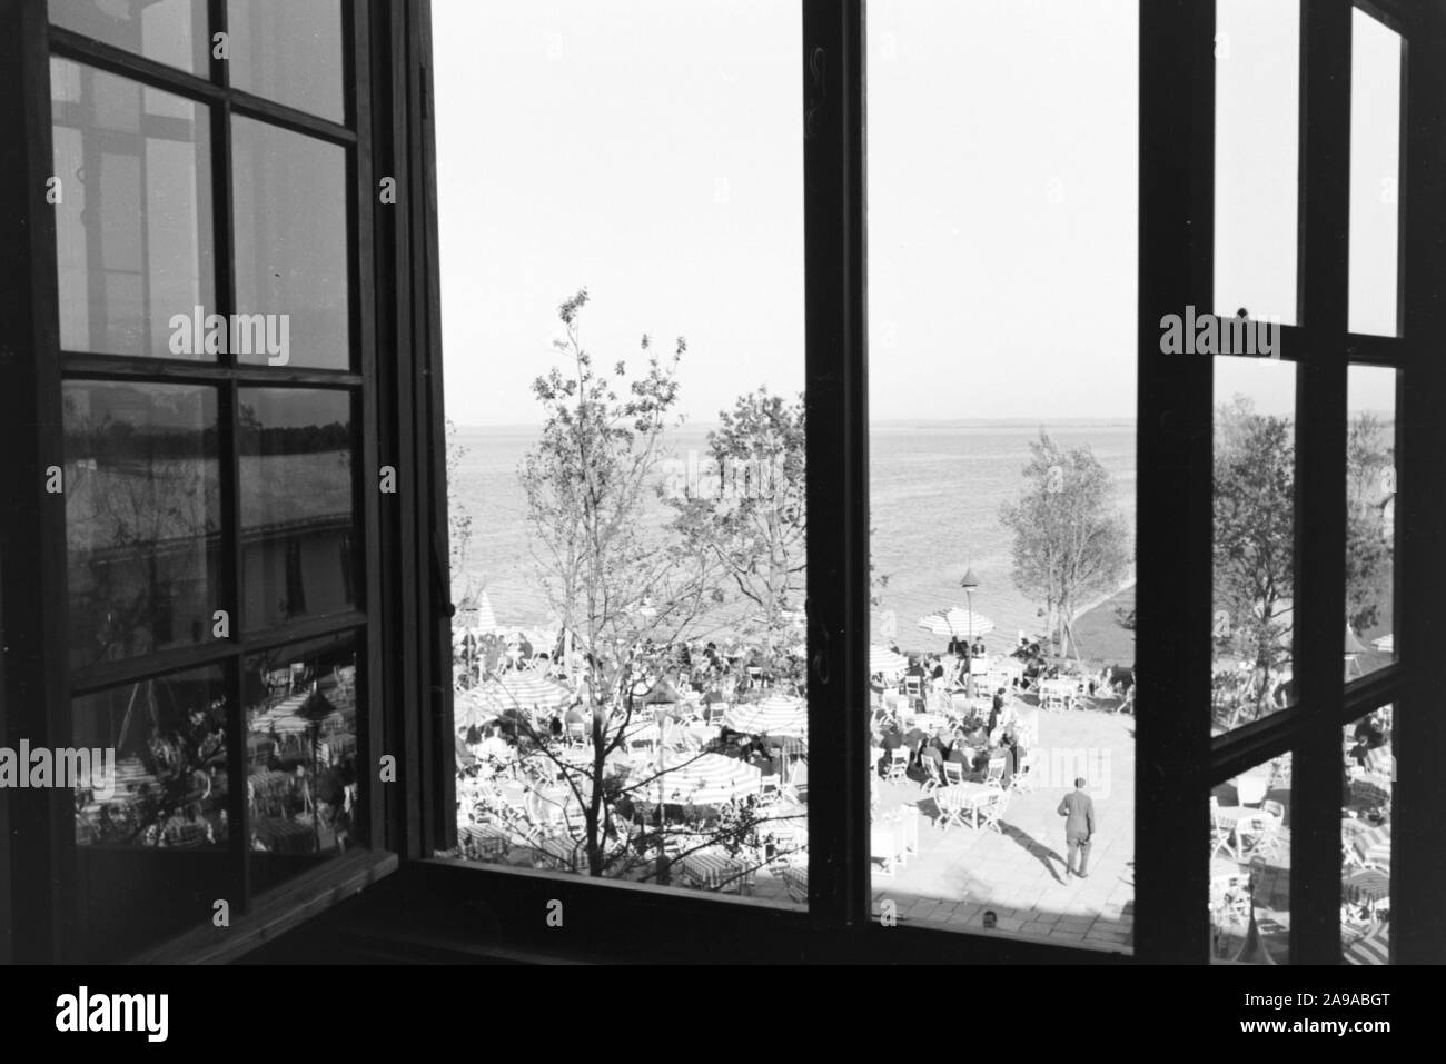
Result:
M672 528L717 561L742 603L758 610L765 666L788 653L788 613L801 606L807 568L804 403L759 389L739 396L709 434L710 476L665 484ZM680 490L681 489L681 490ZM755 629L756 630L756 629Z

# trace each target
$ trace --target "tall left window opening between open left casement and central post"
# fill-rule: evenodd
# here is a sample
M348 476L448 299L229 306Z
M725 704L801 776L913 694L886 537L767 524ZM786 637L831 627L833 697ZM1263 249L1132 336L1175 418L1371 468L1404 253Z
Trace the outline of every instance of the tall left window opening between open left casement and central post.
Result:
M457 856L803 904L798 10L434 19Z

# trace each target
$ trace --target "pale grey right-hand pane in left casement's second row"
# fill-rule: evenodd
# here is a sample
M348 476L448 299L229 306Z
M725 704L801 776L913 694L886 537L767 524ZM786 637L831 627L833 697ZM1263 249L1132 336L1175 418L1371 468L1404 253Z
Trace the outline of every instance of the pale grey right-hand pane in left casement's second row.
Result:
M268 338L237 359L348 369L346 152L252 119L233 119L231 130L236 306L266 315Z

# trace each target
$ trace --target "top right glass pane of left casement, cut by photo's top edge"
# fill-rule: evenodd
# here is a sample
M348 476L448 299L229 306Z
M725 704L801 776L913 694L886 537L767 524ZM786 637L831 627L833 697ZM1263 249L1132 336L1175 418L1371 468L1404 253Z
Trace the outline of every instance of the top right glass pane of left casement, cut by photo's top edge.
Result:
M346 120L340 0L230 0L231 87Z

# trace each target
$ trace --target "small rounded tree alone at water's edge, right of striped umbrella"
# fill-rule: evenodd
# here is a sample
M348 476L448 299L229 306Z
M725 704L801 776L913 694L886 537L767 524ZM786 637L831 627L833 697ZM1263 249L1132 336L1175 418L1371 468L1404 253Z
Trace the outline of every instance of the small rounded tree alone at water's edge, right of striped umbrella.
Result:
M1064 450L1041 428L1030 452L1022 494L999 512L1014 532L1014 583L1044 600L1060 655L1079 653L1074 614L1087 597L1118 587L1129 567L1129 529L1089 447Z

